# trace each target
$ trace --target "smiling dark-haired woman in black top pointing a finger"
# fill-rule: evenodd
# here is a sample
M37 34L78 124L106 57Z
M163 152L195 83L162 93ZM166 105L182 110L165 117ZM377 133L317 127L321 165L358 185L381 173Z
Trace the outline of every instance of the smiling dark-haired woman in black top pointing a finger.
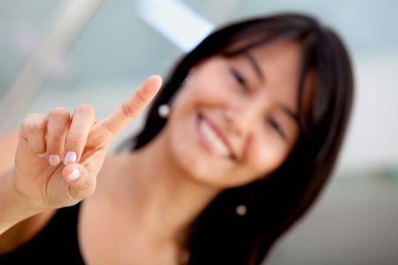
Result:
M158 87L149 78L98 123L88 106L27 117L1 178L0 261L260 263L325 186L353 80L314 19L235 23L182 58L134 152L105 157Z

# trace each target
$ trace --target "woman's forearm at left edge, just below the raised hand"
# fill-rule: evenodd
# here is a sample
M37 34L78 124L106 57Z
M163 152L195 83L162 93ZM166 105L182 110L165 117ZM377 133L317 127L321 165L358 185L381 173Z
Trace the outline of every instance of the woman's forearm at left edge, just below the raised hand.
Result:
M13 170L0 173L0 236L13 225L41 212L19 195L12 183Z

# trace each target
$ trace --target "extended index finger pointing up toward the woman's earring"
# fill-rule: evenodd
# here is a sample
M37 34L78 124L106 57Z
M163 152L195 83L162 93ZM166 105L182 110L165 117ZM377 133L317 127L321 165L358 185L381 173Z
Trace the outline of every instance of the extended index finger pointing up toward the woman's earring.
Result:
M149 102L157 95L157 91L162 86L162 78L153 75L146 79L142 86L130 96L126 101L122 102L118 109L114 110L108 117L105 117L101 124L108 129L113 135L120 133L126 125L149 104Z

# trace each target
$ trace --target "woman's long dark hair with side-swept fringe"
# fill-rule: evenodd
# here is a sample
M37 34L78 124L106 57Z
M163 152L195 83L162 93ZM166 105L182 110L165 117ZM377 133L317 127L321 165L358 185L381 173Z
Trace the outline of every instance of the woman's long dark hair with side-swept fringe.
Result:
M272 243L307 211L333 170L353 98L348 52L340 38L317 20L300 14L250 19L210 34L176 65L134 139L145 146L165 125L157 108L169 102L189 69L204 58L233 56L279 40L301 44L297 89L301 133L287 160L266 178L221 192L195 220L187 248L189 264L258 264ZM303 108L303 83L313 72L311 108ZM246 204L238 216L235 208Z

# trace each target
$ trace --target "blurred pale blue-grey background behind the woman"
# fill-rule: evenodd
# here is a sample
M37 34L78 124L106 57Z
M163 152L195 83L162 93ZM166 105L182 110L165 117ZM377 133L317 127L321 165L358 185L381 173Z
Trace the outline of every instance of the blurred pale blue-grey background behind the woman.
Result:
M213 27L279 11L341 34L356 102L333 178L265 263L398 264L396 0L0 0L0 132L55 106L88 103L104 117Z

